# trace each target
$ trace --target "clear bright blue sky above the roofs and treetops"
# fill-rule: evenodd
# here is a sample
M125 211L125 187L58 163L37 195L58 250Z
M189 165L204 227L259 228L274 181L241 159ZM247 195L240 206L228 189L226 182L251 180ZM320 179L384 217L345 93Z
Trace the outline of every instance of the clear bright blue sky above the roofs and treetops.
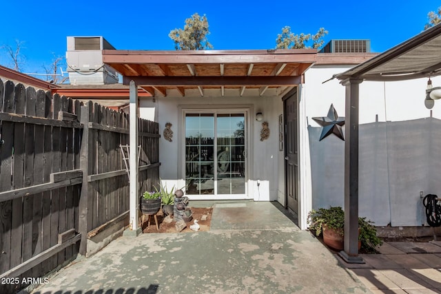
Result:
M209 22L215 50L269 49L285 25L296 34L320 27L331 39L370 39L383 52L420 33L440 1L1 1L0 45L23 42L23 72L44 72L65 56L66 36L104 36L120 50L174 50L170 30L194 12ZM12 66L4 50L0 64ZM65 68L63 68L65 70Z

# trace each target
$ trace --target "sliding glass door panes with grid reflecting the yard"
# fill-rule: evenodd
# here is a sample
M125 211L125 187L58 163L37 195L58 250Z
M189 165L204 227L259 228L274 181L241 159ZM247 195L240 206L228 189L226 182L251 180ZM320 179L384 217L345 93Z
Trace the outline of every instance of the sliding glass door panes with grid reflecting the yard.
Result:
M186 193L245 196L245 138L244 113L185 114Z

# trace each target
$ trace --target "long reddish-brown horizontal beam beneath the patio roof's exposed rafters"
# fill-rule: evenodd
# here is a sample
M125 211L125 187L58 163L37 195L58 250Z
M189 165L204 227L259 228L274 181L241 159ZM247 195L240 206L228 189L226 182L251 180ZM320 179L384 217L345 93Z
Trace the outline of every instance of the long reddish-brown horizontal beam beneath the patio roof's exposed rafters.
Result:
M151 87L185 86L294 86L301 76L124 76L123 84L134 81L136 85Z

